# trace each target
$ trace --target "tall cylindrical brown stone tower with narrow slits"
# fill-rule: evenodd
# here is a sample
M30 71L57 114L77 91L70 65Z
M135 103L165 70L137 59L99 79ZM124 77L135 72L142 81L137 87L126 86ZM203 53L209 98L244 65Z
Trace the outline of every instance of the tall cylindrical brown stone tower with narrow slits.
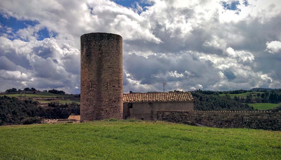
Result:
M123 117L122 37L81 36L80 121Z

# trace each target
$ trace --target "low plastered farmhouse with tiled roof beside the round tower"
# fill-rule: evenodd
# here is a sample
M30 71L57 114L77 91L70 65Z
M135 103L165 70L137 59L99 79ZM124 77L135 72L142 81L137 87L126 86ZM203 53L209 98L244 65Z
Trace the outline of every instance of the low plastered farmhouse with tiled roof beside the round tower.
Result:
M193 110L191 92L123 94L123 118L157 120L157 110Z

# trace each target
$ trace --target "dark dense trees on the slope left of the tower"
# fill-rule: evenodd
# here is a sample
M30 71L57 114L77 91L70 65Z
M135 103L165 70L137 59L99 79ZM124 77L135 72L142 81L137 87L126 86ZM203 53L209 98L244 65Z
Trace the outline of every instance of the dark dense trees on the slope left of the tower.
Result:
M80 114L80 104L51 102L48 106L39 106L39 102L32 99L0 97L0 125L26 124L27 119L35 117L64 119L71 114Z

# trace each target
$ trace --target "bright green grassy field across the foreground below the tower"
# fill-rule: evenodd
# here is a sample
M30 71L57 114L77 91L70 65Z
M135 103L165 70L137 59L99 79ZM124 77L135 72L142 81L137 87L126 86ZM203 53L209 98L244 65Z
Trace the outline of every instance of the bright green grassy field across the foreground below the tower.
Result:
M128 121L0 126L0 159L281 159L281 131Z

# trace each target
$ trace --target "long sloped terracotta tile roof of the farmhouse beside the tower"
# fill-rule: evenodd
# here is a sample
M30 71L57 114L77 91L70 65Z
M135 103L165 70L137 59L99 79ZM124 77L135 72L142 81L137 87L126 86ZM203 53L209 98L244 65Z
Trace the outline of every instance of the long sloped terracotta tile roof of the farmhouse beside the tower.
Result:
M123 103L193 101L191 92L180 93L128 93L123 94Z

